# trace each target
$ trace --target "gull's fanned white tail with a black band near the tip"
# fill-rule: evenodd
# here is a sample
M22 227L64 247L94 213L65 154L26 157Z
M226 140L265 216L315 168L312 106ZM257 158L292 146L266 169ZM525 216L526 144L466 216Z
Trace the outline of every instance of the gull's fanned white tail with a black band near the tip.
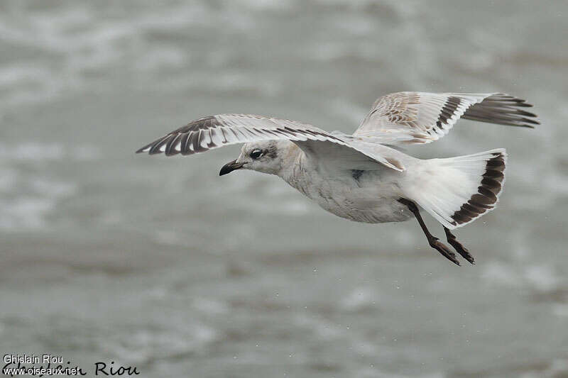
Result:
M408 197L449 229L495 208L505 184L503 148L447 159L422 160L409 179Z

